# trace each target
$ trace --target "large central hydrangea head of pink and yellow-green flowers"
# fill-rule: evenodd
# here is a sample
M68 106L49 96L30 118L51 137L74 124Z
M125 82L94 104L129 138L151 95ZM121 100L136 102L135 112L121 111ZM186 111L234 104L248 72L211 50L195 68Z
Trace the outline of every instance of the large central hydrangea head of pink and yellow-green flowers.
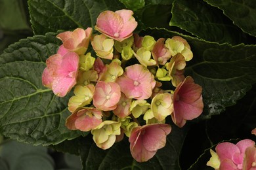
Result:
M63 44L47 59L42 82L59 97L74 88L68 129L91 131L102 149L126 135L133 158L142 162L165 146L171 133L165 119L182 127L202 114L203 101L202 87L184 76L193 57L188 42L140 37L136 27L133 11L107 10L96 20L101 34L92 35L91 27L58 34Z

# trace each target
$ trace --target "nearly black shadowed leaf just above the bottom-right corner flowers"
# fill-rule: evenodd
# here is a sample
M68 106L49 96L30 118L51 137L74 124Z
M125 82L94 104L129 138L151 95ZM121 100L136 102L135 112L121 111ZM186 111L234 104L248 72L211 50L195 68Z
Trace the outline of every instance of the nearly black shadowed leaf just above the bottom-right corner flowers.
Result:
M223 114L207 121L207 133L211 143L228 139L252 139L251 130L256 127L256 84L232 107L227 107ZM254 137L254 139L253 139Z

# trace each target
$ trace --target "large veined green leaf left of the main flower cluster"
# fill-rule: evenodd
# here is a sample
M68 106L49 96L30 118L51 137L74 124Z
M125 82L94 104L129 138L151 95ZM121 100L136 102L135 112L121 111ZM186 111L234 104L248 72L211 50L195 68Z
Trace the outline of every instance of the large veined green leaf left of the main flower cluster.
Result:
M0 56L0 133L6 137L49 145L81 135L65 126L68 97L41 84L45 60L60 44L55 35L22 39Z

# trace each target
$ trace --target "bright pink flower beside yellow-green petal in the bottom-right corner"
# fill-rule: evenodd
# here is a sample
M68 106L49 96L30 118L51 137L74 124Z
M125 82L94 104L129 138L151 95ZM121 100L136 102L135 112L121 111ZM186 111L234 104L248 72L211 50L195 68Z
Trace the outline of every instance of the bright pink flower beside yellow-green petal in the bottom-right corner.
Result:
M250 139L244 139L237 144L228 142L218 144L215 149L221 161L220 169L242 169L245 150L254 145L255 142ZM251 159L251 156L249 158Z

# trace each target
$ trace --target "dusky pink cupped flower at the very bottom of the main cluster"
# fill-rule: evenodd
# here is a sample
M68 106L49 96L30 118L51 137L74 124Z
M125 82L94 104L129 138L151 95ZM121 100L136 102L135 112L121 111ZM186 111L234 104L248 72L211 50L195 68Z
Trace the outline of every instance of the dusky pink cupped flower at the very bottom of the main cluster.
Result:
M142 162L150 160L166 143L166 136L171 132L168 124L150 124L134 127L129 137L131 155Z

